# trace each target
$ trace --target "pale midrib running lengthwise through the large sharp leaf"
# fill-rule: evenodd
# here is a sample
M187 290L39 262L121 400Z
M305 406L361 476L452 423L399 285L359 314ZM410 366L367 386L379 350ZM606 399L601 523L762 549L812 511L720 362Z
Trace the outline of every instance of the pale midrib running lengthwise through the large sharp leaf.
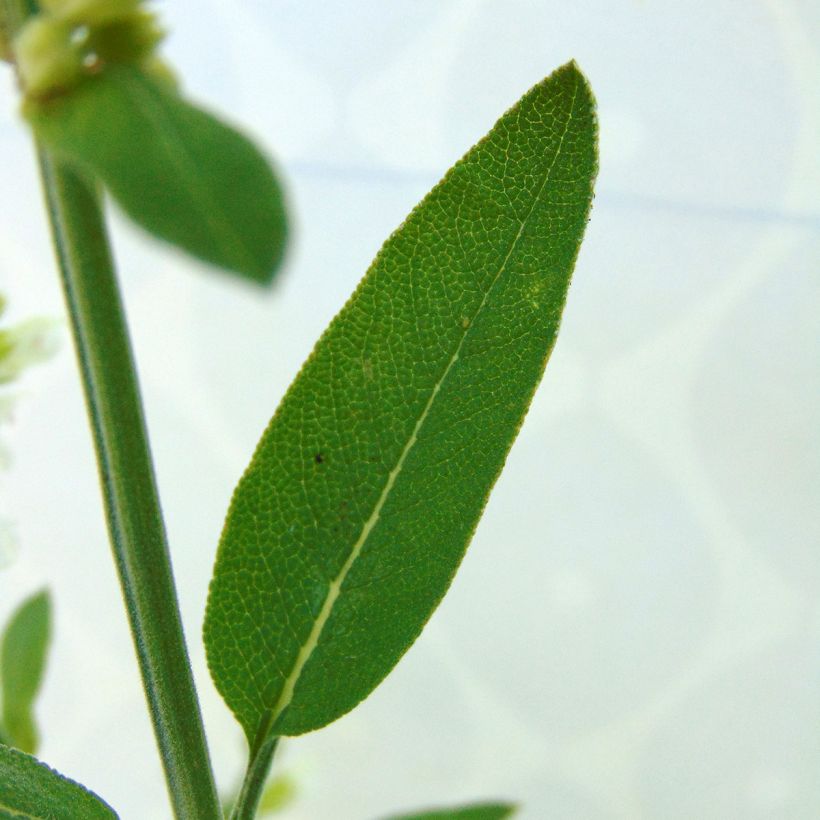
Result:
M373 507L373 512L370 514L370 517L364 523L362 527L361 533L359 534L359 538L356 540L356 543L353 545L350 555L347 557L347 560L342 565L342 568L337 573L336 577L328 585L328 593L325 597L324 603L322 604L322 608L319 611L319 614L316 616L316 619L313 623L313 627L311 628L310 634L308 635L306 641L302 644L299 652L296 655L296 660L294 661L293 668L291 669L290 674L285 679L285 684L282 687L282 692L277 700L276 704L274 705L273 709L270 712L269 719L265 722L264 730L261 734L257 734L256 736L256 747L258 748L262 743L264 743L265 739L268 737L270 732L272 731L273 727L276 725L276 722L279 718L284 714L285 710L290 705L294 692L296 690L296 686L299 682L299 679L304 671L305 666L307 665L308 661L310 660L311 655L313 654L314 650L319 644L319 640L321 638L322 632L330 620L330 616L333 612L333 607L341 593L342 585L345 582L350 570L353 568L358 557L361 555L362 550L364 549L365 544L367 543L367 539L370 537L370 533L375 528L376 524L379 521L381 516L381 511L384 508L384 505L387 503L387 499L390 496L390 492L395 485L396 479L400 475L402 468L404 467L404 463L410 454L410 451L413 449L414 445L418 440L418 434L421 431L422 426L424 425L425 421L427 420L430 411L433 407L433 404L436 400L436 396L438 395L439 391L441 390L441 386L446 381L450 371L453 369L453 366L459 360L459 356L461 354L461 350L464 347L464 343L467 340L468 336L470 335L473 327L475 325L475 320L481 314L481 311L487 304L487 301L490 298L496 284L498 283L499 279L504 274L507 264L510 261L510 258L515 253L516 247L524 234L524 230L527 227L527 224L532 217L536 207L538 206L541 197L546 190L547 184L549 183L550 177L552 172L555 168L555 165L558 162L559 157L561 156L561 150L563 148L564 140L566 139L567 133L569 132L569 126L572 123L573 118L573 109L575 107L575 100L578 95L578 87L579 81L576 79L575 87L573 88L572 92L572 99L569 104L569 114L567 116L566 124L564 125L563 133L561 134L561 138L558 141L558 147L555 151L555 156L553 157L552 162L550 163L549 168L547 168L544 174L544 180L542 181L538 192L536 193L535 197L533 197L532 205L530 206L527 215L521 220L521 225L518 228L518 232L515 235L515 238L510 244L510 249L507 252L506 256L504 257L497 273L493 277L492 282L490 283L489 287L484 293L484 296L481 299L478 307L476 308L475 312L473 313L472 318L470 318L467 327L464 330L464 334L462 335L461 339L459 340L458 344L456 345L456 349L453 352L452 356L447 362L441 376L439 377L438 381L433 386L432 392L430 394L430 398L427 400L427 403L424 406L421 414L419 415L418 420L416 421L415 426L413 427L413 431L410 434L410 437L407 441L407 444L404 446L401 454L399 455L398 460L396 461L395 467L390 471L387 477L387 481L385 482L384 488L376 501L375 506Z

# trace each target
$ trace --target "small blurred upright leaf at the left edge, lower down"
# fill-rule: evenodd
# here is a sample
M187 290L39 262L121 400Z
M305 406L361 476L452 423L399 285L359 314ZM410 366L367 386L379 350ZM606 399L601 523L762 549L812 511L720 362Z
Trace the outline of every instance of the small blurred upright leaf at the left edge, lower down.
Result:
M37 750L34 701L46 664L51 634L51 599L46 590L32 595L12 615L0 648L3 734L24 752Z

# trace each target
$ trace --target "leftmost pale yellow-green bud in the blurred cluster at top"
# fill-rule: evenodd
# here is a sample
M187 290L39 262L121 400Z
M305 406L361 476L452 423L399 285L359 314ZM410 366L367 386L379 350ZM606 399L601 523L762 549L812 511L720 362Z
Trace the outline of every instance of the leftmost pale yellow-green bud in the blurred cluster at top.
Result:
M72 26L45 15L32 18L14 40L23 90L30 97L71 88L83 73L83 56Z

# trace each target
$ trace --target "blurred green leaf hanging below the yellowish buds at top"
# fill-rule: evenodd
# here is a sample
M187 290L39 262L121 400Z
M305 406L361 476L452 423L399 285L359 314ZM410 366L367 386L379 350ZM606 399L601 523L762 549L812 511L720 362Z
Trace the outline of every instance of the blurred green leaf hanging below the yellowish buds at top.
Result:
M99 178L151 233L256 281L273 276L282 194L241 134L131 66L111 65L27 116L46 146Z

